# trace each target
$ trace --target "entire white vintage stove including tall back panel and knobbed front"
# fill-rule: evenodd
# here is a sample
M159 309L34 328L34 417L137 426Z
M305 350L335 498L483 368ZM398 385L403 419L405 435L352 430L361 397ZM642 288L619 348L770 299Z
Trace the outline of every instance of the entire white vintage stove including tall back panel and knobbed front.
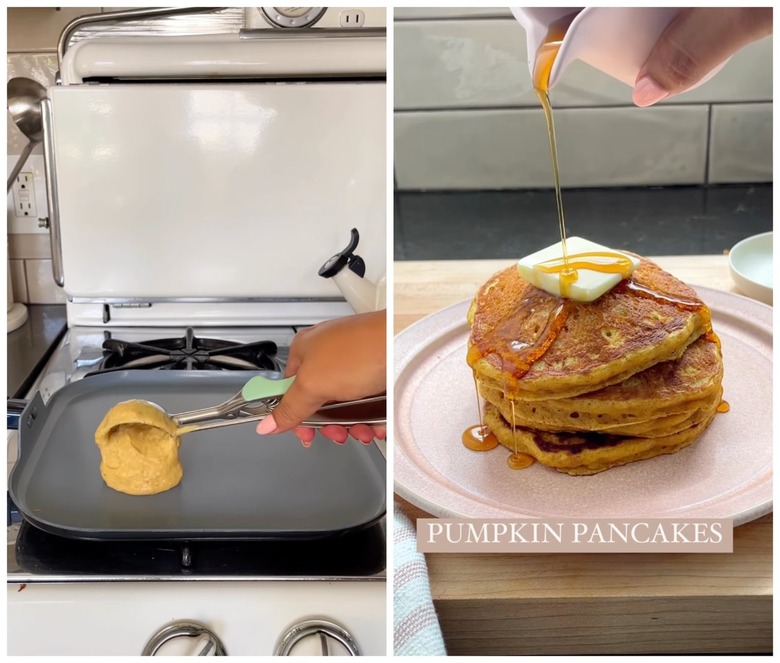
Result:
M177 35L149 28L164 12L63 33L43 107L68 330L30 398L96 370L280 371L301 326L353 313L318 275L352 228L385 273L383 10L247 8L240 32ZM384 520L287 547L93 542L10 505L8 531L10 654L386 653Z

